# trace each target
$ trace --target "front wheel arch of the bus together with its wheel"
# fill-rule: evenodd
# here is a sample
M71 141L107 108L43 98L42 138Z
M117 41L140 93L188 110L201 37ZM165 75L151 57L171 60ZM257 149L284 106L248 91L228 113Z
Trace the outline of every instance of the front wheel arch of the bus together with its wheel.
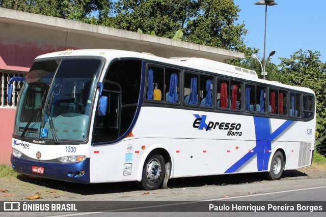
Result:
M143 190L156 190L167 188L171 174L171 157L164 148L156 148L147 154L141 171L141 181L137 183Z

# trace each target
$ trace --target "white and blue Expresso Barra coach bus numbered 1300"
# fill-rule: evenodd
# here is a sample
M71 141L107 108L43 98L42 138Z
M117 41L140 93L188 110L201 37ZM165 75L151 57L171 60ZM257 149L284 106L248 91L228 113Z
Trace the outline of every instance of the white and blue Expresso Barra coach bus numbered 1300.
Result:
M315 94L217 61L110 49L38 56L16 108L12 168L78 183L284 170L312 163Z

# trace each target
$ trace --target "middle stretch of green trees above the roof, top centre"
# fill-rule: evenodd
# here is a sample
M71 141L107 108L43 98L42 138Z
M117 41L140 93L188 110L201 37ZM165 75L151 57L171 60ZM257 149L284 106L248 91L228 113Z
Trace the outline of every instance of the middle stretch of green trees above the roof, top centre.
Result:
M191 19L194 14L194 0L122 0L113 5L115 16L110 17L102 25L172 38L178 29Z

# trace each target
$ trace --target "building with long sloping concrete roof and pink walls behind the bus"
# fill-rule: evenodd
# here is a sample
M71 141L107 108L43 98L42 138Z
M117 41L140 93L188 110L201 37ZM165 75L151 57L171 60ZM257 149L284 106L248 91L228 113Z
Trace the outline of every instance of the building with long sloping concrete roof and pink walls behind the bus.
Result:
M10 163L16 100L7 103L11 77L25 75L36 56L58 50L108 48L152 53L161 57L191 56L226 62L243 53L126 30L0 8L0 164Z

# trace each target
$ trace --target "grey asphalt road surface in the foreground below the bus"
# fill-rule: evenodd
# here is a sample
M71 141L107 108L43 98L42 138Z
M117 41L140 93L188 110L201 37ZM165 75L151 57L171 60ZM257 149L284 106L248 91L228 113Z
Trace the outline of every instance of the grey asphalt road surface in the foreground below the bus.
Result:
M267 181L260 173L219 175L171 179L169 189L140 191L128 182L94 185L71 185L78 196L59 198L60 201L79 203L78 212L2 212L5 216L207 216L219 214L288 216L326 215L326 171L285 171L281 180ZM80 187L83 187L80 189ZM84 192L84 193L83 193ZM56 202L51 198L42 202ZM82 202L77 202L82 201ZM80 205L80 203L83 203ZM95 201L95 202L94 202ZM101 202L105 201L105 202ZM111 201L111 202L107 202ZM205 201L205 202L199 202ZM209 204L232 207L233 203L248 206L289 206L297 204L316 206L323 212L221 212L209 211ZM295 202L293 202L295 201ZM37 201L39 202L39 201ZM293 204L295 203L295 204ZM301 206L301 205L300 205ZM98 207L98 209L93 209ZM183 207L183 208L182 208ZM319 207L319 208L318 208ZM232 208L233 209L233 208ZM106 210L103 212L103 210ZM82 211L82 212L79 212ZM91 212L90 212L91 211ZM107 212L110 211L110 212ZM147 211L147 212L143 212ZM168 211L168 212L167 212ZM201 211L201 212L198 212ZM206 212L202 212L206 211ZM234 211L234 210L233 210ZM271 212L272 211L272 212ZM282 214L282 215L283 215Z

